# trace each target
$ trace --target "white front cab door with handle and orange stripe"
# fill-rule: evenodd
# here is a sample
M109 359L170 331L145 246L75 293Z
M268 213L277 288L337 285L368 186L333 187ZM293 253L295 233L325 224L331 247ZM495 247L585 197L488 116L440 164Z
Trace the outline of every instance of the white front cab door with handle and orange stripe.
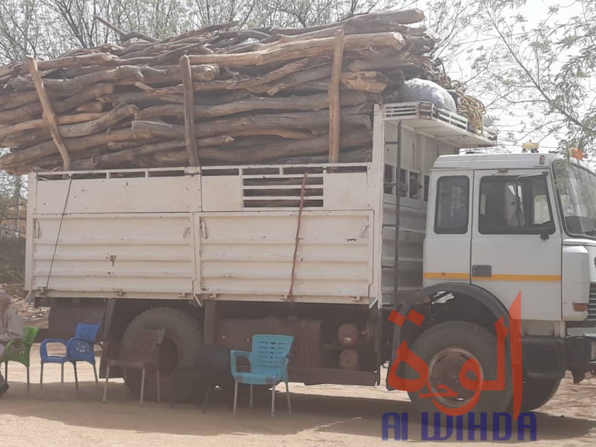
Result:
M474 172L471 282L525 320L561 319L562 238L542 169Z

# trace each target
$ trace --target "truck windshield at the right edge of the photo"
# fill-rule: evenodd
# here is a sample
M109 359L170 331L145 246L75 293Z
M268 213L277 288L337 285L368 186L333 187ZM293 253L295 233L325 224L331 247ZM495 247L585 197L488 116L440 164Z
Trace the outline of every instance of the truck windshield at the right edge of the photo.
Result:
M555 162L554 171L567 233L596 237L596 175L566 160Z

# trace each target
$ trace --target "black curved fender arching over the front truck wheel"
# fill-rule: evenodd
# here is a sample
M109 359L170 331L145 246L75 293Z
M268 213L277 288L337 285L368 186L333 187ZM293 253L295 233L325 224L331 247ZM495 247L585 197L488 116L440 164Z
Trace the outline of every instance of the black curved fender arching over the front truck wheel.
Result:
M443 292L443 293L441 293ZM495 317L495 322L504 316L506 327L509 327L509 311L506 307L499 301L499 299L488 292L487 290L478 287L477 285L472 284L465 284L465 283L439 283L430 285L427 288L423 288L417 294L412 294L405 301L399 310L396 311L403 316L403 318L407 318L408 312L414 307L415 305L422 304L425 298L430 300L430 303L434 303L438 299L445 296L445 294L458 294L467 296L474 301L481 303L488 311L493 314ZM403 342L402 338L405 339L406 337L403 335L403 327L406 327L408 324L413 324L412 322L404 322L401 326L394 324L393 326L393 342L391 348L391 362L395 361L395 350L401 342ZM414 340L408 340L408 344L411 345ZM403 376L403 368L397 369L397 374L399 376ZM393 389L390 387L388 383L386 383L387 389Z

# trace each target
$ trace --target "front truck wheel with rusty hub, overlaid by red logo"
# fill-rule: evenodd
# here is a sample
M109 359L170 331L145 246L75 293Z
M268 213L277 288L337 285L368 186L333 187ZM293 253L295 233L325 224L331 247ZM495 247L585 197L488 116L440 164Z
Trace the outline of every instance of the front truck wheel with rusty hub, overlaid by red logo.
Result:
M480 364L481 381L497 379L497 337L477 324L461 321L436 324L423 332L410 349L427 364L428 381L419 392L408 392L408 394L414 407L423 413L428 413L430 420L438 417L432 416L432 413L440 413L440 417L443 420L446 419L445 414L434 405L433 400L443 407L456 410L473 399L474 392L466 389L459 380L460 370L467 360L475 359ZM507 353L505 357L504 389L481 392L476 405L469 410L469 413L475 413L476 423L480 423L482 417L478 413L488 413L486 417L490 424L493 419L491 413L506 411L511 401L510 359ZM418 377L419 373L414 372L413 368L406 368L405 379ZM467 378L477 380L472 372L467 373ZM440 388L439 385L447 386L457 396L421 397L428 393L445 394L445 389ZM464 413L464 425L467 425L467 421L468 415Z

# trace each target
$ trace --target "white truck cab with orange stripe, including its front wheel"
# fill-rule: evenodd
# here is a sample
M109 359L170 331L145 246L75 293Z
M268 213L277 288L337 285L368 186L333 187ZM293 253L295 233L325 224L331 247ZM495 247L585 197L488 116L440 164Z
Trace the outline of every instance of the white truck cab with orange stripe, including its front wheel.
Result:
M438 397L440 405L466 402L449 374L470 359L480 363L484 380L495 379L497 350L486 346L494 359L481 359L478 350L483 338L498 343L495 322L507 320L513 305L520 311L522 410L546 403L567 370L579 383L596 369L596 175L577 159L439 156L430 173L423 251L423 289L412 299L417 304L406 303L400 313L417 309L432 322L404 324L394 348L404 340L414 346L429 367L430 392L438 384L459 387L458 399ZM511 337L515 327L508 329ZM507 369L514 369L506 346ZM503 388L488 392L493 400L484 408L506 409L513 381L506 371ZM420 409L433 408L430 399L412 392L410 398Z

